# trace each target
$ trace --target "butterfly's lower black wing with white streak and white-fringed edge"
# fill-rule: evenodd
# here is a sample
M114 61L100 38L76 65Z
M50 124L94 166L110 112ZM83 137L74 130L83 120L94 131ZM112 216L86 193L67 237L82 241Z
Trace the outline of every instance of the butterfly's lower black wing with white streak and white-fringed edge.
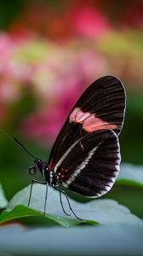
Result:
M100 130L81 138L57 172L61 170L62 185L66 188L92 197L106 194L120 170L120 148L116 133Z

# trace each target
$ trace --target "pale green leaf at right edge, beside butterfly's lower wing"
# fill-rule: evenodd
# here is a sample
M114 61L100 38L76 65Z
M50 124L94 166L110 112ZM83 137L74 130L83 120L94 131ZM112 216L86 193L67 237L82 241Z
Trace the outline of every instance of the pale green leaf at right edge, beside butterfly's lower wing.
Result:
M143 189L143 166L123 164L117 177L117 183Z

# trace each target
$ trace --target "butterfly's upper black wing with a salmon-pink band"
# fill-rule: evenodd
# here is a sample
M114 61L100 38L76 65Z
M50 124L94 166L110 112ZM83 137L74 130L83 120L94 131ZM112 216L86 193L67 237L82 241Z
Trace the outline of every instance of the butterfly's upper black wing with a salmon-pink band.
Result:
M125 91L119 79L105 76L90 84L72 108L55 140L49 167L54 169L68 149L91 132L112 129L118 135L123 127L124 111Z

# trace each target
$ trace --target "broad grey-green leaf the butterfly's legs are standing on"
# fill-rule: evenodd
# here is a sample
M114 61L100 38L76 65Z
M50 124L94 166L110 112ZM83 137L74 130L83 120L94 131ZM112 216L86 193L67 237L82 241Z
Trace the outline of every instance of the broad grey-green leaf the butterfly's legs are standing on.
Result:
M4 223L14 218L22 218L28 216L43 216L43 206L45 199L46 186L42 184L34 184L31 195L30 208L27 202L30 194L30 186L22 189L13 199L5 211L0 215L0 223ZM70 212L66 197L62 195L63 205L66 212ZM72 209L76 212L78 220L73 215L67 218L60 206L59 192L49 187L47 209L45 218L53 220L57 224L63 226L71 226L75 224L142 224L142 220L129 212L127 207L123 207L112 200L95 199L87 203L79 203L70 199Z

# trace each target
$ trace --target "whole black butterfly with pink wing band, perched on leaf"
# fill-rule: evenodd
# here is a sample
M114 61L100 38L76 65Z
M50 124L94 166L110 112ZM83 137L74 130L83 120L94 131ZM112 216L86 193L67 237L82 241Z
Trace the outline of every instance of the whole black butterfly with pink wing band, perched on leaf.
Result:
M34 174L38 169L47 185L44 212L49 185L60 191L65 213L61 201L61 192L66 195L63 188L93 198L112 188L120 171L118 135L123 128L125 101L123 84L116 77L104 76L90 84L61 128L48 163L37 159L14 139L35 159L29 173ZM32 181L31 189L34 182L38 181ZM66 199L78 218L67 195ZM30 201L31 191L28 205Z

